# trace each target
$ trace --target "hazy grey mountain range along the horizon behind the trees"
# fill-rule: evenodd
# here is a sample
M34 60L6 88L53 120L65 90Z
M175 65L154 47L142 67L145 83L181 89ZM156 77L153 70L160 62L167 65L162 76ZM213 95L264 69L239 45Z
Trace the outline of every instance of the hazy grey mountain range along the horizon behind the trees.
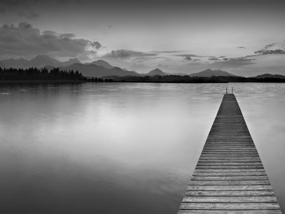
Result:
M65 62L60 62L56 59L53 59L48 56L39 55L32 60L25 59L9 59L9 60L1 60L0 67L5 68L47 68L51 70L52 68L59 67L62 70L78 70L84 76L87 77L103 77L103 76L154 76L154 75L187 75L185 73L166 73L162 70L155 68L148 73L137 73L136 71L129 71L125 68L119 68L110 65L108 62L104 60L97 60L90 63L82 64L78 59L70 59ZM211 70L207 69L197 73L191 73L190 77L193 76L201 76L201 77L211 77L211 76L236 76L226 71L222 70ZM253 78L264 78L264 77L274 77L274 78L285 78L283 75L272 75L272 74L263 74L258 75Z

